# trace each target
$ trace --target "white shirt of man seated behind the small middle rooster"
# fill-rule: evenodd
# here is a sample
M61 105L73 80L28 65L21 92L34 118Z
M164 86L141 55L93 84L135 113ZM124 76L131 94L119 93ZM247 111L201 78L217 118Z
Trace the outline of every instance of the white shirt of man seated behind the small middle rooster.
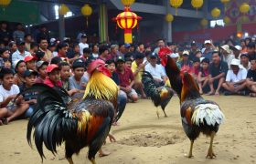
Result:
M156 78L156 79L162 79L162 77L165 77L165 69L161 66L161 65L155 65L155 67L153 67L151 64L148 64L144 67L144 70L149 72L152 77Z

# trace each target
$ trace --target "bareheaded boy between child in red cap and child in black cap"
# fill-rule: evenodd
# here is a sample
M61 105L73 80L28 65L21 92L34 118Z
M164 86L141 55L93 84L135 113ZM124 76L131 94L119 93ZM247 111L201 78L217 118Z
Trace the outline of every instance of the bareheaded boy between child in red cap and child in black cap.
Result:
M59 63L60 79L62 87L69 93L69 96L77 93L79 90L76 88L70 89L69 77L70 77L70 66L67 62Z

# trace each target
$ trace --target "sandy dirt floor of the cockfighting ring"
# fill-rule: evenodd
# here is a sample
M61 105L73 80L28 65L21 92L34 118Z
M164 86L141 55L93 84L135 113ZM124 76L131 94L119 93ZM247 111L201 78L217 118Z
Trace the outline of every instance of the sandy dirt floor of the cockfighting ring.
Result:
M103 146L111 151L108 157L99 158L103 164L250 164L256 163L256 106L252 97L207 97L219 103L226 120L220 126L214 140L216 159L206 159L209 138L201 135L194 144L194 158L187 159L189 139L180 120L178 98L174 97L167 106L168 118L160 110L156 117L151 100L140 100L128 104L120 126L113 127L117 142ZM41 159L37 150L30 149L26 139L27 120L11 122L0 127L1 164L37 164ZM68 163L64 158L64 147L54 157L47 150L45 164ZM76 164L90 163L87 149L74 156Z

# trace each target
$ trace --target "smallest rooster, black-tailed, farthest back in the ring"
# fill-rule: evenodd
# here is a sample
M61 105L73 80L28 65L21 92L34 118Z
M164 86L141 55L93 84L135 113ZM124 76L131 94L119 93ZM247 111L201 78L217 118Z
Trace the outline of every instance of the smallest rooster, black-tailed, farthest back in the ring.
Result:
M142 82L144 84L144 91L146 95L150 96L154 102L157 118L159 118L158 106L161 106L166 118L167 115L165 113L165 107L174 96L174 92L170 87L167 87L166 85L163 87L157 87L155 85L154 78L147 71L143 72Z

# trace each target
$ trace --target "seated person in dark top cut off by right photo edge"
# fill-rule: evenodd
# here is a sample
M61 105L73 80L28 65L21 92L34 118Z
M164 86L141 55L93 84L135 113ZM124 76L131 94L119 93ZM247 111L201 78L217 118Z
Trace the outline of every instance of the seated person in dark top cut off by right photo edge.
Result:
M248 71L245 84L251 91L251 97L256 97L256 59L251 60L251 69Z

